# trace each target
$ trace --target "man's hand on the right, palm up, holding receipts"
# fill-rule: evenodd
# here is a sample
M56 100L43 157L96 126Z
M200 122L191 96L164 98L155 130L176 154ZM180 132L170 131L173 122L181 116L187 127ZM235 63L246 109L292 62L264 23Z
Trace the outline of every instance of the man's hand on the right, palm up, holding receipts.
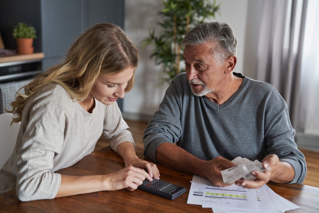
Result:
M284 162L286 163L286 162ZM273 177L275 176L275 173L278 170L278 166L279 166L279 158L277 155L271 154L266 156L263 161L263 168L268 169L264 172L260 172L260 171L251 171L251 174L256 177L255 180L244 180L244 179L240 179L240 180L236 180L235 184L238 186L242 186L245 188L259 188L261 186L263 186L264 184L268 183L270 180L273 179Z

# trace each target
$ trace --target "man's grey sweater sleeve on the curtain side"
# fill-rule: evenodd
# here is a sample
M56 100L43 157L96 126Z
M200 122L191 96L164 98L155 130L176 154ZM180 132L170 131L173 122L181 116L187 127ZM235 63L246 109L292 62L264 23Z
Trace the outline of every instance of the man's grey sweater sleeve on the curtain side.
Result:
M264 126L266 155L276 154L280 161L291 164L295 176L290 183L301 184L307 174L307 165L294 141L295 130L290 123L287 105L279 94L272 94L267 105Z

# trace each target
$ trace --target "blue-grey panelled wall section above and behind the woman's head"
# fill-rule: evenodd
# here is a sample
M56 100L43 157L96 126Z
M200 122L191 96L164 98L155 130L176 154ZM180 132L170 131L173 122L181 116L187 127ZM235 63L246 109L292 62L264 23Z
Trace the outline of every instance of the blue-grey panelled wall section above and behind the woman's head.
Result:
M108 22L123 27L124 0L41 0L43 69L63 60L88 27Z

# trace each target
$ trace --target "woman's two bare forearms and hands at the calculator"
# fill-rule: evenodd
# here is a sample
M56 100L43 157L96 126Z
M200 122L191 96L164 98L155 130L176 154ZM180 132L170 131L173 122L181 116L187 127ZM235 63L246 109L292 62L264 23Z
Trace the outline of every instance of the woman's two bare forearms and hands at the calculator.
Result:
M151 177L159 179L156 165L139 159L135 154L133 143L122 142L118 145L117 152L124 159L125 169L107 175L61 175L61 185L56 197L122 188L134 190L145 178L151 181ZM144 171L144 168L149 173Z

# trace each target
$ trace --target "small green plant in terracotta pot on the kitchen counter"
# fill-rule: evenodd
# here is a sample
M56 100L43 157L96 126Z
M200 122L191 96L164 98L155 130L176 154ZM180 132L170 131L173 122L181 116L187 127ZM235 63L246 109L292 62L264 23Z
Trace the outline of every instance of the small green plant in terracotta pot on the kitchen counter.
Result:
M13 29L13 38L17 41L17 50L19 54L33 53L33 39L38 38L33 26L20 22Z

